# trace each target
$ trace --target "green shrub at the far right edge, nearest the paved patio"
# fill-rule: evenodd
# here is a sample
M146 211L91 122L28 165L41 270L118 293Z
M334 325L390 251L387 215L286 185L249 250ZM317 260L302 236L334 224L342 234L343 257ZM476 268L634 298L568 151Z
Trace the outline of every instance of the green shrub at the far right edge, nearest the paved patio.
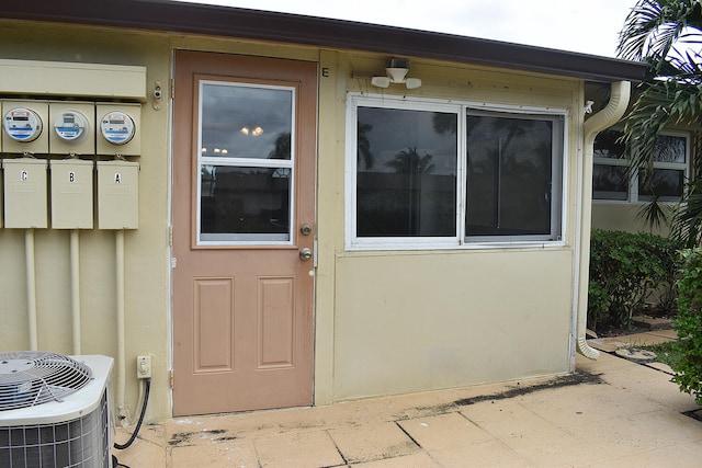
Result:
M672 326L678 333L676 351L680 358L673 365L672 378L680 391L702 404L702 249L682 252L678 279L678 316Z

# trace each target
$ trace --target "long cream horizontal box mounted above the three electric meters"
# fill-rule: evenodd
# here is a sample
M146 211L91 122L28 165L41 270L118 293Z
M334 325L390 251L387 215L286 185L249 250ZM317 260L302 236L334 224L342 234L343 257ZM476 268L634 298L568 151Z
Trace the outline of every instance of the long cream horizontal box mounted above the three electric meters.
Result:
M146 101L146 67L0 59L0 93Z

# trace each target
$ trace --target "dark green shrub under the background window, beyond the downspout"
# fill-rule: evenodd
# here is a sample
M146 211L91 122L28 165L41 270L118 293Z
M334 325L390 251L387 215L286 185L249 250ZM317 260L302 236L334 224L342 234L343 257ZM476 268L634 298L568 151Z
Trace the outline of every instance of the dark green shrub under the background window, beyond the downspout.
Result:
M678 241L650 233L592 231L588 328L629 327L647 299L675 305Z

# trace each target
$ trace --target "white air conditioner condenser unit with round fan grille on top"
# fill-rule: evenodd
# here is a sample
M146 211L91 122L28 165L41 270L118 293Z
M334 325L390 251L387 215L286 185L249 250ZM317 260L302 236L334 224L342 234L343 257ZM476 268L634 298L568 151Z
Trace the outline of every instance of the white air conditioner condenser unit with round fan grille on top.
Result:
M109 468L107 356L0 353L0 467Z

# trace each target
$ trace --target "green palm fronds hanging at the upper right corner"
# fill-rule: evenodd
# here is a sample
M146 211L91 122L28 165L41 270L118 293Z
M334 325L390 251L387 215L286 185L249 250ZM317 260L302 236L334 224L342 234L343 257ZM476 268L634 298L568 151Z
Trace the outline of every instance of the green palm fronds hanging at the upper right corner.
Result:
M622 141L627 176L650 186L657 136L667 127L699 127L702 121L702 0L638 0L620 33L621 58L645 61L648 69L624 117ZM672 215L657 199L639 216L649 226L670 220L671 235L688 246L702 238L702 138L693 138L695 165Z

